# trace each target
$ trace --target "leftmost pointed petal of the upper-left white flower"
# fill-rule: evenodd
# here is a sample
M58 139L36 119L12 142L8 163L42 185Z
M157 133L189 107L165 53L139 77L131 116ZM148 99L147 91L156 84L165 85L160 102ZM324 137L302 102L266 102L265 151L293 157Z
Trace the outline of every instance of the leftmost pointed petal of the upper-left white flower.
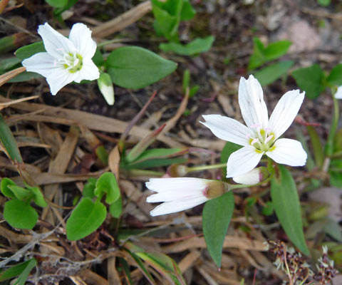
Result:
M44 77L48 77L53 69L56 68L57 62L48 53L36 53L31 58L26 58L22 62L25 66L26 71L32 71L41 74Z

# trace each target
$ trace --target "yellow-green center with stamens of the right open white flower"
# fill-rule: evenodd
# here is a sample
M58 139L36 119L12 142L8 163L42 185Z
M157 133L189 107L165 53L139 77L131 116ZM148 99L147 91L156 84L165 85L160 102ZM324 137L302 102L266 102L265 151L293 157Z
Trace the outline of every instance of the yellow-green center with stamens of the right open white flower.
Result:
M274 133L269 128L261 128L259 124L252 125L254 135L249 136L249 145L255 147L258 152L266 152L272 150L275 141Z

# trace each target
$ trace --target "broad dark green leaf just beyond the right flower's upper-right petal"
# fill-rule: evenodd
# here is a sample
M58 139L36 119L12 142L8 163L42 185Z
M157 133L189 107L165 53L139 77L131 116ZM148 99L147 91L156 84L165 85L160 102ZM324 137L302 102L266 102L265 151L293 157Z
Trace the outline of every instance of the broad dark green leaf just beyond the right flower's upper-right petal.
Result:
M310 67L299 68L292 71L292 76L301 90L306 92L306 97L315 99L324 90L325 75L318 64Z

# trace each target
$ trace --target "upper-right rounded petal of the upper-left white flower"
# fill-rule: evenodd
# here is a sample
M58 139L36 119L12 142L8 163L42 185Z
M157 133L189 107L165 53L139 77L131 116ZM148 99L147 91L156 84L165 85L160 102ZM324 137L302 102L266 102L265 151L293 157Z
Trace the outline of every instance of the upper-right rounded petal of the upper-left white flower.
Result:
M96 51L96 43L91 38L91 31L85 24L77 23L71 28L69 39L83 58L92 58Z

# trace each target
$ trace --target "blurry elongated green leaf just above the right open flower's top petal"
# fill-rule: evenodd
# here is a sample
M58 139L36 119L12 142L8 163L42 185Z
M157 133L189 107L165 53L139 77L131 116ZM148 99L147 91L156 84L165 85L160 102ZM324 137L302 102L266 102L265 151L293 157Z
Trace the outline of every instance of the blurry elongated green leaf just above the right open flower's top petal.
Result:
M293 61L280 61L279 63L273 63L254 73L254 76L257 78L261 86L265 86L286 74L286 71L288 71L293 64Z

